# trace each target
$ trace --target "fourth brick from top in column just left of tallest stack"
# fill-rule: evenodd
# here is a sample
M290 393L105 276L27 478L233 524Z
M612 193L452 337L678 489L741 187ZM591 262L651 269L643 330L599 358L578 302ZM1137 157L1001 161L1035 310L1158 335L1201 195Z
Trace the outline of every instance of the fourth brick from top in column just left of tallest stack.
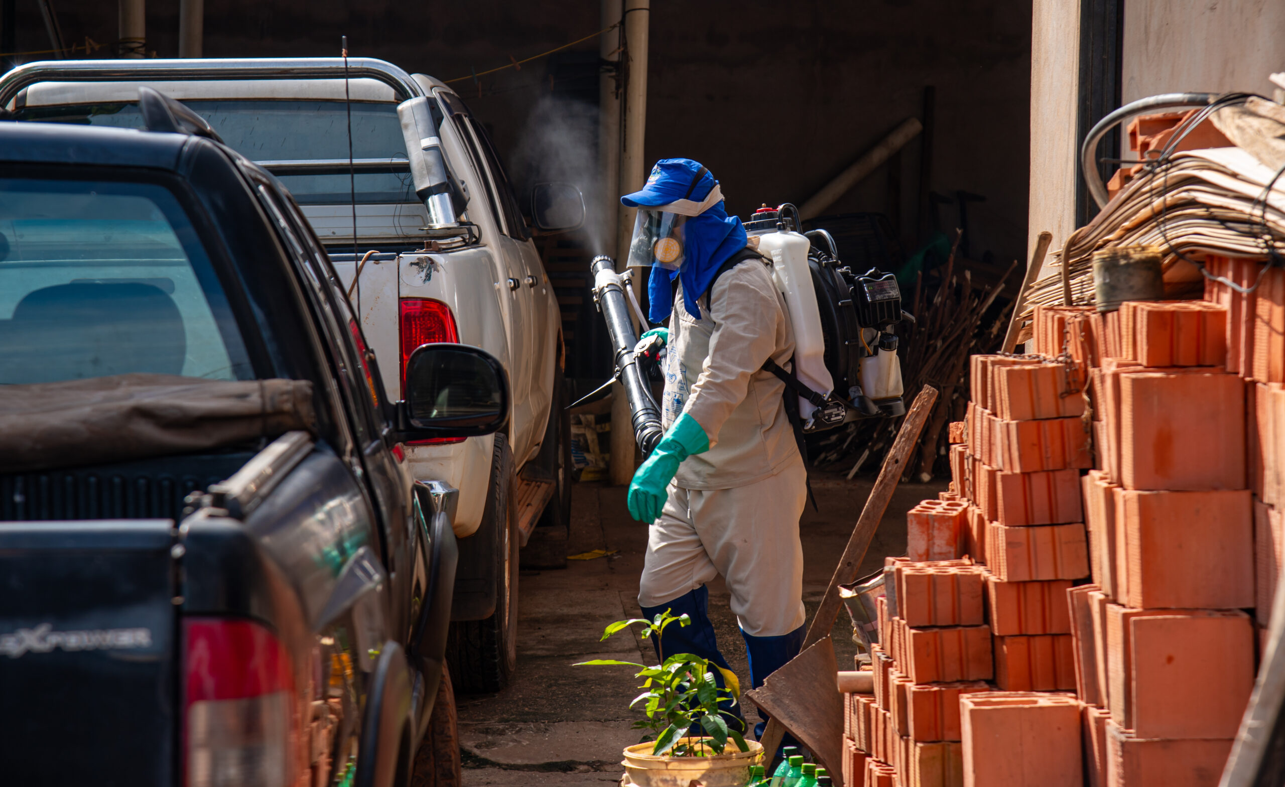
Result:
M991 522L986 553L987 567L1006 583L1088 576L1088 540L1081 523L1005 527Z

